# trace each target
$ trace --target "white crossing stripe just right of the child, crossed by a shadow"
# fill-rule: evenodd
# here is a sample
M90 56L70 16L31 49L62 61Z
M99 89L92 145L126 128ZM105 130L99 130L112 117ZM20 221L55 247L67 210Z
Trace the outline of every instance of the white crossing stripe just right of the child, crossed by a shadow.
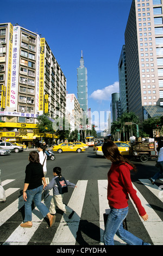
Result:
M87 180L79 180L77 187L74 188L68 206L75 213L71 220L64 214L61 218L59 227L55 233L51 245L75 245L80 217L82 215L83 203L85 198Z

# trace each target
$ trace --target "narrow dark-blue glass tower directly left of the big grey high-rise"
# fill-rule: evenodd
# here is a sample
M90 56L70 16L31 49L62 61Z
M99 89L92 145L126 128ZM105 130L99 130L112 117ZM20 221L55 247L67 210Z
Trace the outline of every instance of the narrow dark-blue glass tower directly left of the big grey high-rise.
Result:
M128 89L127 89L127 71L126 71L126 51L125 45L122 47L120 60L118 62L118 76L120 85L121 113L128 113Z

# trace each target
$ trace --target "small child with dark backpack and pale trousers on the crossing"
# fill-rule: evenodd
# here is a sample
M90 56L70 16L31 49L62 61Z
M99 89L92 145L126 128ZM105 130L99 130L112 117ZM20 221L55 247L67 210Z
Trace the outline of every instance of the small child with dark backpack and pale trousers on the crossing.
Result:
M55 206L58 206L58 208L64 211L70 219L73 216L74 211L62 202L62 199L64 197L64 191L61 190L66 190L65 192L67 192L67 186L76 187L76 185L69 182L68 180L65 180L64 177L62 177L60 167L53 168L53 175L54 178L49 182L46 187L44 187L44 190L51 190L53 188L53 197L51 199L51 206L49 211L51 212L51 214L56 214Z

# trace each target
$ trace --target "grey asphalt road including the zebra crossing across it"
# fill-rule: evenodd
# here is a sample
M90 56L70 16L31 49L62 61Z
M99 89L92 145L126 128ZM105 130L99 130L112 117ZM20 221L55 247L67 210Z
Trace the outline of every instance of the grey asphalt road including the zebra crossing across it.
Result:
M107 173L111 162L103 157L96 157L93 149L84 153L55 153L55 161L47 161L47 177L53 178L53 167L62 168L62 175L77 184L77 188L68 189L64 194L64 203L76 211L72 220L67 220L60 210L54 226L49 228L47 219L43 219L33 206L33 227L20 228L24 216L22 190L25 168L29 163L29 151L1 156L1 180L8 194L7 201L0 203L0 244L2 245L103 245L103 214L108 211L106 200ZM142 205L149 215L148 222L142 222L129 200L127 227L131 233L154 245L163 245L162 198L159 188L162 179L156 185L148 178L156 171L155 161L132 162L137 173L131 173L131 180ZM162 177L161 177L162 178ZM52 191L51 191L52 192ZM51 196L45 202L50 204ZM125 243L115 237L116 245Z

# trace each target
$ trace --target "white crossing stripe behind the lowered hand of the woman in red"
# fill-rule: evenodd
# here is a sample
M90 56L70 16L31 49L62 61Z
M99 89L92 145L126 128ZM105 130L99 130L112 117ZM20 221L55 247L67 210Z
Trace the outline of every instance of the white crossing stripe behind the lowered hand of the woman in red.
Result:
M148 204L146 199L142 196L142 194L137 190L135 185L133 184L133 187L137 191L137 196L140 198L141 203L143 207L145 208L147 214L148 214L148 221L143 221L142 217L139 215L143 225L145 226L149 236L151 237L151 240L154 245L163 245L163 222L159 218L159 216L155 213L155 211L152 209L152 207ZM131 202L133 203L133 200L131 199ZM133 203L134 208L137 211L137 208L135 204ZM138 213L138 212L137 212Z

